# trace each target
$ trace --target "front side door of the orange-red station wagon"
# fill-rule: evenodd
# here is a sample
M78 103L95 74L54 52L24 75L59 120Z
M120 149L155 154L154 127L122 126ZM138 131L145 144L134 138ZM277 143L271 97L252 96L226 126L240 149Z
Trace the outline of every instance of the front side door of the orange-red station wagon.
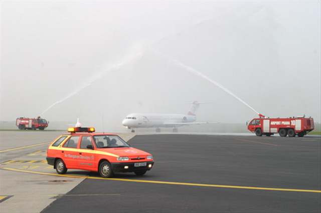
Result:
M95 156L94 150L87 148L87 145L92 145L92 147L94 147L92 137L90 135L83 135L81 137L80 147L79 147L80 159L77 163L79 168L85 169L85 170L96 167L95 165L96 156Z

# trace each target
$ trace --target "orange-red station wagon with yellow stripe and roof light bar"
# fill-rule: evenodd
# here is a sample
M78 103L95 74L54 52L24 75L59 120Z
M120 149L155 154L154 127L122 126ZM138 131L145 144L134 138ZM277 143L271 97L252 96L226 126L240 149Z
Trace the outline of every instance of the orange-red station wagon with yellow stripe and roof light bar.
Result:
M130 147L116 134L95 133L95 128L68 128L70 134L56 138L48 147L47 162L57 173L83 169L111 177L114 172L143 175L154 164L148 152Z

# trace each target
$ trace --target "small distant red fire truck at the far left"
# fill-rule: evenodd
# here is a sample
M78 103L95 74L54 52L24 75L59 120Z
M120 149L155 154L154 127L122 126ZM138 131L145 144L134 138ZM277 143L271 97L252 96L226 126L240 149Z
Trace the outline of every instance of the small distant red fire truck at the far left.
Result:
M48 127L48 123L46 119L41 118L38 116L37 118L25 118L20 117L16 119L16 126L19 129L40 129L44 130Z

